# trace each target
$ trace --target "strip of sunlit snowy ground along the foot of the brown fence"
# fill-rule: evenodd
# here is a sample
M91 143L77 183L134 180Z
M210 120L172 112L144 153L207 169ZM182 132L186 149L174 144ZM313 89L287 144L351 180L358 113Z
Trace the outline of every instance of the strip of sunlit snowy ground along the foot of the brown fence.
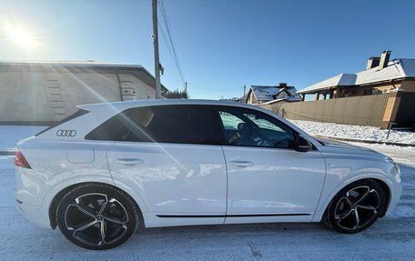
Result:
M404 143L415 145L415 132L391 130L389 139L386 139L388 130L379 127L360 125L339 125L310 121L290 120L312 136L328 136L370 140L379 142Z

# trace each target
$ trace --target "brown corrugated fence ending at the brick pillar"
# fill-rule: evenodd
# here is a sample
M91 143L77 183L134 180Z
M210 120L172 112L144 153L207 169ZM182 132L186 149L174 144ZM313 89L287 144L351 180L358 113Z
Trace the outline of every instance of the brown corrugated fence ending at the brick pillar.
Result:
M388 100L393 95L396 94L365 95L261 106L288 119L381 126Z

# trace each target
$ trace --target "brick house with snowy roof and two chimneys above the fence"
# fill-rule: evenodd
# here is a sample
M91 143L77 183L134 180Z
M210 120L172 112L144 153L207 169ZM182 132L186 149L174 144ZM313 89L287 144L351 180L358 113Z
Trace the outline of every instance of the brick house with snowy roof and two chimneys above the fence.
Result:
M297 92L304 101L305 95L315 100L390 92L415 92L415 59L394 59L390 51L380 57L370 57L366 69L356 74L339 74L310 85Z

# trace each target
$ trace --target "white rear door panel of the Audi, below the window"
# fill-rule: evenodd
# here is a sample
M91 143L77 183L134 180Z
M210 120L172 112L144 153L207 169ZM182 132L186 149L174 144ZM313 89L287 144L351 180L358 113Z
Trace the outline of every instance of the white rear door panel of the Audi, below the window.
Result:
M113 178L129 184L155 215L225 216L227 171L221 146L116 142ZM224 217L211 219L215 224Z

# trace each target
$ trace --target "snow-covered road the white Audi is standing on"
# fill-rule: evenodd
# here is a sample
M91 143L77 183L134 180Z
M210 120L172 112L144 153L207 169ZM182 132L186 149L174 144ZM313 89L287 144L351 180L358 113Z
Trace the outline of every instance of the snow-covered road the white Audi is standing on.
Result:
M88 251L58 230L30 224L15 209L13 156L0 156L1 260L415 260L415 150L368 145L396 160L403 195L390 216L355 235L319 224L147 229L115 249Z

